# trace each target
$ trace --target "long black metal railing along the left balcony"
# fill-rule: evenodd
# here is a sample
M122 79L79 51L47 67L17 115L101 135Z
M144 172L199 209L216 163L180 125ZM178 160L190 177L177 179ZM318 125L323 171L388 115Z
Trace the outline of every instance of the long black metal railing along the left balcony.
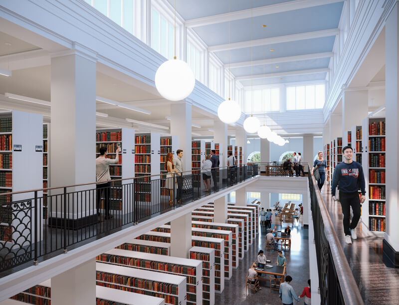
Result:
M257 174L258 165L252 164L189 171L175 177L142 174L105 185L2 193L0 277L5 275L3 271L13 272L16 266L66 253ZM44 190L47 194L43 195Z

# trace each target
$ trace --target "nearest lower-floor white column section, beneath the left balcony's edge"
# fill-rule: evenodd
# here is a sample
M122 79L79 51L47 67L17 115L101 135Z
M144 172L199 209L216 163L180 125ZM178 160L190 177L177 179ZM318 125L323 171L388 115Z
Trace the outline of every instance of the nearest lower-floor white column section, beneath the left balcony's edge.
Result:
M51 278L51 303L81 305L96 303L96 259Z

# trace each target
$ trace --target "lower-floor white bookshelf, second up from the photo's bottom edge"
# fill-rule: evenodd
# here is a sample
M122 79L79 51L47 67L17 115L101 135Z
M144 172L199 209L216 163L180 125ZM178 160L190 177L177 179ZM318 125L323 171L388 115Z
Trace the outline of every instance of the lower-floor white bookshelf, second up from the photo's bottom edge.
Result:
M165 304L186 304L186 277L131 267L96 263L96 284L165 299Z

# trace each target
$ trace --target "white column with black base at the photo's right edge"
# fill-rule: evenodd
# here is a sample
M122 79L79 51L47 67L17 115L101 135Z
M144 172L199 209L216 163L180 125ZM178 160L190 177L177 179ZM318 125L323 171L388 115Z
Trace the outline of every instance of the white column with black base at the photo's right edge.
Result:
M399 268L399 4L395 4L385 26L386 109L386 233L384 262Z

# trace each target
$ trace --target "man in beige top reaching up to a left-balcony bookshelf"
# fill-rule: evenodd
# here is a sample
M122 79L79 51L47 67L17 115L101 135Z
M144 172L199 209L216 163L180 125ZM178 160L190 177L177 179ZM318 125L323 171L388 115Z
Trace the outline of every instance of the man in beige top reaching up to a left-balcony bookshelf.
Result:
M119 152L121 148L118 146L116 150L115 159L107 158L107 147L100 147L100 156L96 158L96 198L97 198L97 216L98 221L101 220L101 196L104 198L104 219L110 219L113 216L109 214L109 198L110 198L110 187L111 187L111 176L109 174L109 165L118 164Z

